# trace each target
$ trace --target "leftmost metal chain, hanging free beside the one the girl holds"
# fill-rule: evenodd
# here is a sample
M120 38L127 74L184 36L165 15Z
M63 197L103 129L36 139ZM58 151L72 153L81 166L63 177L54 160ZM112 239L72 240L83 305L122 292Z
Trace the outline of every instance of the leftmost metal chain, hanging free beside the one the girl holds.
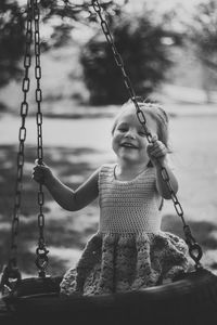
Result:
M12 286L21 281L21 272L17 268L17 238L18 238L18 227L20 227L20 212L21 212L21 202L22 202L22 187L23 187L23 167L24 167L24 144L26 140L26 117L28 114L28 103L27 93L29 91L29 67L31 64L30 46L33 41L33 6L31 2L27 2L27 22L26 22L26 46L24 55L24 68L25 74L23 78L22 91L23 101L21 103L21 117L22 126L18 131L18 152L16 160L16 183L15 183L15 198L14 198L14 209L12 219L12 232L11 232L11 246L10 246L10 257L8 265L2 272L1 278L1 289L8 287L9 290Z

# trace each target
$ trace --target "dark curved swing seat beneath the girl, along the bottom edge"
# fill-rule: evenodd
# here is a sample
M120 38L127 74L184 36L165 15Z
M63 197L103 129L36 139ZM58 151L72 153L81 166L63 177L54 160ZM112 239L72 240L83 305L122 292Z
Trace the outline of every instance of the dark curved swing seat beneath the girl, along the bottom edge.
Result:
M60 281L24 280L17 295L3 299L9 310L2 324L217 324L217 276L205 269L170 284L102 296L60 297Z

